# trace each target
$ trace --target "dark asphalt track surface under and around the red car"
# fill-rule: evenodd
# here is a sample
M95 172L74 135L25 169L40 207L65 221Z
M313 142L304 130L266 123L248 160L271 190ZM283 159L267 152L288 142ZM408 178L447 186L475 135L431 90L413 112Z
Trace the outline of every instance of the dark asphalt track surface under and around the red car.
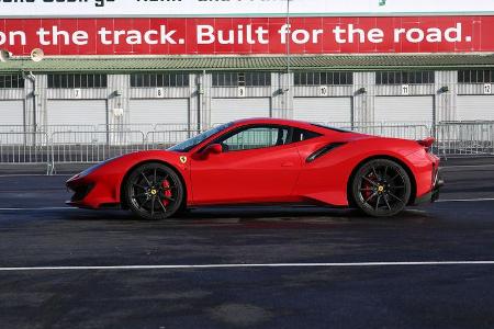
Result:
M494 328L494 160L450 160L441 202L64 207L67 175L0 175L0 328Z

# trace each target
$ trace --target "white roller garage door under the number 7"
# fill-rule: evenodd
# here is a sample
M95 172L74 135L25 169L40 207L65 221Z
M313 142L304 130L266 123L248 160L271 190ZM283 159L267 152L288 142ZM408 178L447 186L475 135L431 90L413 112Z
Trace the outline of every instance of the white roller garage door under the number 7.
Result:
M105 100L49 100L48 125L105 125Z

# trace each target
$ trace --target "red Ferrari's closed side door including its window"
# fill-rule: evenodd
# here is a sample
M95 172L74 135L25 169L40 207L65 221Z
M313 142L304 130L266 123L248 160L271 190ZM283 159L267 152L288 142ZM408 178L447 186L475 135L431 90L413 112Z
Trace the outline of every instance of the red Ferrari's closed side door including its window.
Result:
M291 196L301 169L291 128L256 125L214 140L223 151L192 157L195 204L282 202Z

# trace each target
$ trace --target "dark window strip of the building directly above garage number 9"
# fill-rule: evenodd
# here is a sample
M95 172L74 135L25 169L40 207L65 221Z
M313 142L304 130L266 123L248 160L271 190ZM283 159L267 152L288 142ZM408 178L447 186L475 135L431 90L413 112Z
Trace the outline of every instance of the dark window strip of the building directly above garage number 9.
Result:
M270 72L214 72L213 87L271 86Z

